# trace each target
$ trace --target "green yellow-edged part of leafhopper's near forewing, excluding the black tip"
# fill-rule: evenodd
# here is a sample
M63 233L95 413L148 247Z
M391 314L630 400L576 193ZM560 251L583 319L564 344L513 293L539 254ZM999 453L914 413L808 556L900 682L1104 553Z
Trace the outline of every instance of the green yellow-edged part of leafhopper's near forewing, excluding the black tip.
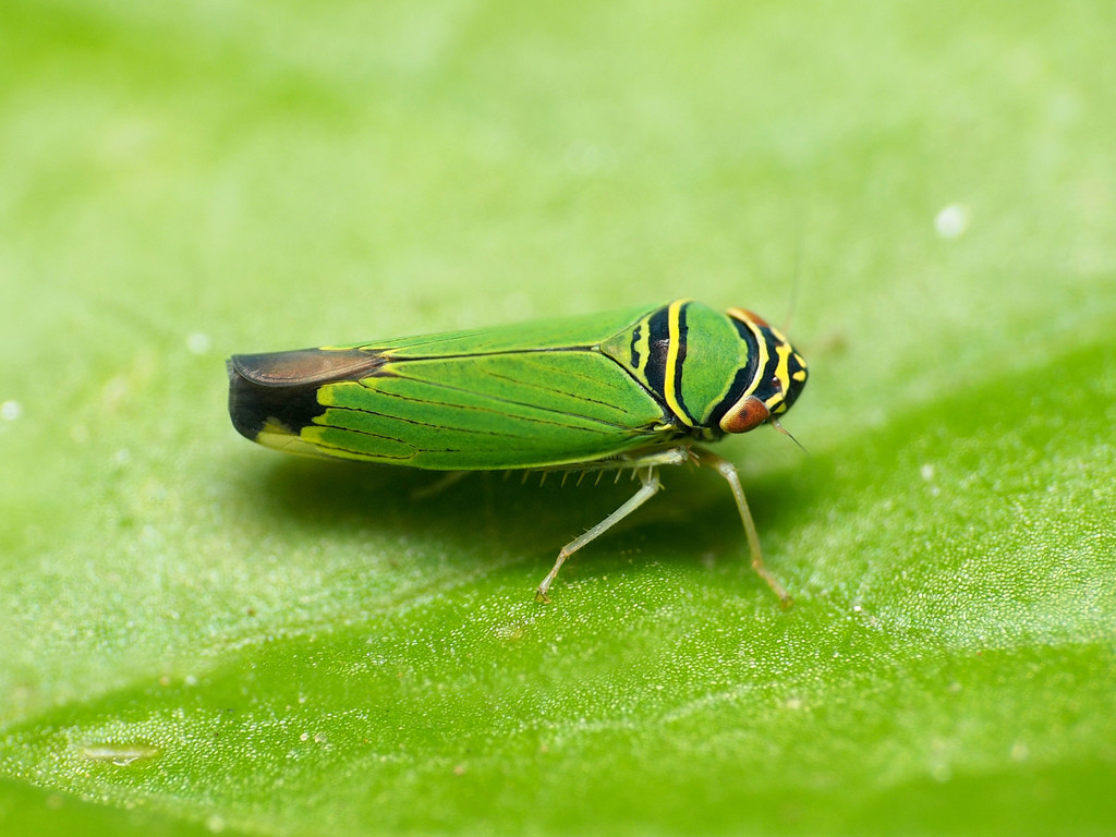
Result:
M545 468L663 436L663 407L595 349L393 359L317 389L300 429L323 453L415 468Z

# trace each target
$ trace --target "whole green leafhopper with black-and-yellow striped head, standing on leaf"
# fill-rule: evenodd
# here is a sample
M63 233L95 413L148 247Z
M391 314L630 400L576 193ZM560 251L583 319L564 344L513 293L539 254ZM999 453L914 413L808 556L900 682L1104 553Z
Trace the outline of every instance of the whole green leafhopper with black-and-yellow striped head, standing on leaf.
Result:
M234 355L229 413L292 453L443 471L631 470L639 489L562 562L650 500L658 469L698 462L735 498L752 567L779 598L732 463L696 445L777 427L806 385L786 337L742 308L690 299L353 346ZM780 429L781 430L781 429Z

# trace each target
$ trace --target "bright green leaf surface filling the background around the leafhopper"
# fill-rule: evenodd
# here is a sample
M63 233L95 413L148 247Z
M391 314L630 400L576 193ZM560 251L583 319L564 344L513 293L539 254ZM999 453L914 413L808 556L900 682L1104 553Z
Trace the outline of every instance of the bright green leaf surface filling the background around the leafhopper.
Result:
M1112 834L1116 7L0 4L0 829ZM223 360L693 296L662 496L288 459Z

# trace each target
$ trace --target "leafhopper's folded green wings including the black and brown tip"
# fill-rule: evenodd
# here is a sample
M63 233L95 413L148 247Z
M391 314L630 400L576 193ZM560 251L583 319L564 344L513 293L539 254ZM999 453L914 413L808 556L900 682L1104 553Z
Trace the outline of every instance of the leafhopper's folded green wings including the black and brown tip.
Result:
M230 413L246 436L299 453L445 470L590 462L675 437L664 406L597 348L631 319L562 321L546 348L512 347L519 328L240 355Z

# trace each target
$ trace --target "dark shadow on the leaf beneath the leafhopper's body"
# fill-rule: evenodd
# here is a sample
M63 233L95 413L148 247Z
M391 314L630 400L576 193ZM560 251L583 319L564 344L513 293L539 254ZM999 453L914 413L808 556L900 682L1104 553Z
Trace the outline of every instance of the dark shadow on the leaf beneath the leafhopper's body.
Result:
M369 463L290 460L260 465L259 513L277 527L297 525L350 546L395 538L434 551L537 562L539 574L571 538L631 497L627 472L566 474L478 471L441 484L444 473ZM664 490L646 507L575 555L569 578L605 575L641 558L700 567L710 556L750 575L744 532L732 496L712 473L664 469ZM778 480L749 488L760 531L793 512ZM783 508L786 507L786 508ZM762 537L762 536L761 536ZM466 559L468 560L468 559ZM578 568L578 565L581 565ZM525 577L525 587L535 574Z

